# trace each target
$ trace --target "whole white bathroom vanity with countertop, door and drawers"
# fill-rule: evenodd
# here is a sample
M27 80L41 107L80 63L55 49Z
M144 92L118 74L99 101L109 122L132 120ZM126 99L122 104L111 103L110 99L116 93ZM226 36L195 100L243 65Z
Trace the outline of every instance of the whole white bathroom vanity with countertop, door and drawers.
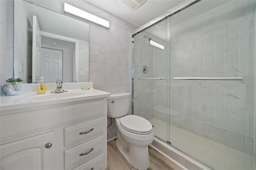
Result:
M67 93L0 97L1 169L107 167L106 97L110 93L93 89L92 83L69 84L63 85ZM50 86L49 91L54 88Z

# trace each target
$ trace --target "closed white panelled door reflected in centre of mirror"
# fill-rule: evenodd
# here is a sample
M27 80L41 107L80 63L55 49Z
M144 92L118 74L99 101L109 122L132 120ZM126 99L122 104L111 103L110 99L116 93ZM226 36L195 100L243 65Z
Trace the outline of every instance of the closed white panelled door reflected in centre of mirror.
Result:
M41 49L41 77L45 77L47 83L55 83L62 80L62 51L56 49Z

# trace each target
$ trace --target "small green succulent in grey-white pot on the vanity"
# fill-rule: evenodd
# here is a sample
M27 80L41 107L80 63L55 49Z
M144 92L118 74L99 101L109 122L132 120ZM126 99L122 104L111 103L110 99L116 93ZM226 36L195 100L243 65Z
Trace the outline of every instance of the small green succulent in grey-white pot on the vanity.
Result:
M4 84L3 89L4 89L4 94L7 96L11 95L18 95L19 91L21 89L21 82L23 81L21 78L9 78L6 80L7 83Z

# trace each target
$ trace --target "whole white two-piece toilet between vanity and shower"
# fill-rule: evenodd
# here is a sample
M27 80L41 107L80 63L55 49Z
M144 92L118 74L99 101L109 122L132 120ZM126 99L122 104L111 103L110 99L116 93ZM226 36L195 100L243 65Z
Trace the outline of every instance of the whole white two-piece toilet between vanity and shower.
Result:
M117 93L108 97L108 117L117 126L116 146L126 160L136 169L150 166L148 145L153 142L152 125L143 117L126 115L129 111L130 93Z

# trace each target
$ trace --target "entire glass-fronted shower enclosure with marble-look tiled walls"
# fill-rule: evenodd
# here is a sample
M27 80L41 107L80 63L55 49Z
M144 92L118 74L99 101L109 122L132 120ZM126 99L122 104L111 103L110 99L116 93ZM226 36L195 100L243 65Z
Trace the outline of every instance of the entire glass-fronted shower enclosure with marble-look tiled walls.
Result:
M133 35L132 113L214 169L256 169L255 8L199 1Z

